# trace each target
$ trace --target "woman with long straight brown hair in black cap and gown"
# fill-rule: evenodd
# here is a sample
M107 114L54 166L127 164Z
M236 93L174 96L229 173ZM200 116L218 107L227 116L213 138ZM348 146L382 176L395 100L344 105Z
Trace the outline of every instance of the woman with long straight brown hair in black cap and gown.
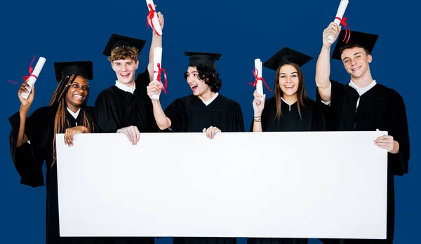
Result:
M321 130L323 123L316 103L307 96L301 66L313 57L283 48L263 66L276 70L274 96L265 101L254 93L254 118L250 131Z

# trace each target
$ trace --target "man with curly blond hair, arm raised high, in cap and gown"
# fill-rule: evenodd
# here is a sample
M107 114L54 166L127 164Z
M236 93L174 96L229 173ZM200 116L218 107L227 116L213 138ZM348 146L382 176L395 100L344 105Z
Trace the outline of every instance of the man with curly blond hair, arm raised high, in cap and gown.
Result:
M163 15L157 15L163 28ZM114 86L98 95L95 102L96 122L103 133L126 134L133 145L138 143L140 133L159 131L152 113L152 102L146 92L154 77L154 48L162 47L162 37L154 32L152 35L149 64L137 77L138 55L146 41L112 34L103 53L111 62L117 80Z

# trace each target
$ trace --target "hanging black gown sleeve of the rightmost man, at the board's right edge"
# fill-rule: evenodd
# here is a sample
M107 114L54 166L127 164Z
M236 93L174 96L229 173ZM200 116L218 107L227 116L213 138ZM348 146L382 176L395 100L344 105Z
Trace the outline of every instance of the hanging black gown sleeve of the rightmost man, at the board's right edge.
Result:
M388 101L390 111L389 135L399 142L399 153L388 154L389 162L392 162L394 175L408 173L409 162L409 132L406 118L406 107L403 98L394 92Z

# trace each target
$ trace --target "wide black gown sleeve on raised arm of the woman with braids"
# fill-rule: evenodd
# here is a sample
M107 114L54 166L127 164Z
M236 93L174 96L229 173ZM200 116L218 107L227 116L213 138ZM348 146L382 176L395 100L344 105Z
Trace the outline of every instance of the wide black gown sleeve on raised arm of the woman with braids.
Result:
M31 144L25 142L20 147L17 147L18 134L20 128L20 115L19 112L13 114L9 118L11 123L11 133L9 135L9 144L11 150L11 157L16 171L20 175L20 184L25 184L31 187L44 186L44 177L42 172L42 165L44 158L36 152L36 122L39 112L34 113L27 118L25 126L25 135L33 139Z

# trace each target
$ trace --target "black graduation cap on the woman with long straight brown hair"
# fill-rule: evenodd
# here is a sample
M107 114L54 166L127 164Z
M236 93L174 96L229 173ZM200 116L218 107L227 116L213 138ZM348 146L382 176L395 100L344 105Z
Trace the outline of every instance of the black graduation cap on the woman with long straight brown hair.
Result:
M269 58L269 60L267 60L263 66L276 71L279 67L281 67L281 65L287 63L294 63L302 67L302 65L305 65L312 59L313 57L310 57L309 55L305 55L304 53L300 53L297 50L285 47L279 50L279 52L273 55L271 58Z

